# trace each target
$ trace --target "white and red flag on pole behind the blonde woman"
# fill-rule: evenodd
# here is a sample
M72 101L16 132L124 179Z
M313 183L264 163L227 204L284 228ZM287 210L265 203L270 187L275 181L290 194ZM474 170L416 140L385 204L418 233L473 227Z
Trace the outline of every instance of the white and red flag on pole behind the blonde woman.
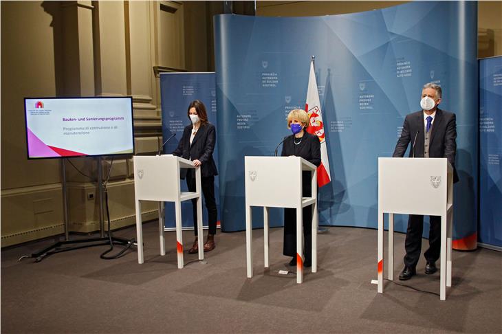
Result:
M328 151L326 147L323 115L320 111L319 92L317 90L316 73L314 71L314 60L310 62L309 89L307 89L305 111L309 114L310 119L307 132L317 135L320 142L320 165L317 168L317 185L318 187L322 187L331 181L331 175L329 173Z

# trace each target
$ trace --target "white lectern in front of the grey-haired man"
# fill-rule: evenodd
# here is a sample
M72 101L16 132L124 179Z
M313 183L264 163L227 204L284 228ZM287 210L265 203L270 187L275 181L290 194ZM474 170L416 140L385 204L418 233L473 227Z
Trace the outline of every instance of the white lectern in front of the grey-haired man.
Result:
M453 169L446 158L378 158L378 292L383 292L384 213L389 213L389 280L393 280L394 214L441 216L441 300L451 287Z

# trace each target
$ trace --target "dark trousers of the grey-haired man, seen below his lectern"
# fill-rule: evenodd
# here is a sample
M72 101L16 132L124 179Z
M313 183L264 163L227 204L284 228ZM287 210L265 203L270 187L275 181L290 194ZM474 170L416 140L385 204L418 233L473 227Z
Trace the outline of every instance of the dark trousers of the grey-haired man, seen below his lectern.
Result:
M415 268L420 258L422 250L422 232L424 231L424 216L410 214L408 219L408 230L406 230L406 239L404 248L404 265ZM428 262L435 262L441 252L441 216L430 216L429 229L429 249L424 253Z

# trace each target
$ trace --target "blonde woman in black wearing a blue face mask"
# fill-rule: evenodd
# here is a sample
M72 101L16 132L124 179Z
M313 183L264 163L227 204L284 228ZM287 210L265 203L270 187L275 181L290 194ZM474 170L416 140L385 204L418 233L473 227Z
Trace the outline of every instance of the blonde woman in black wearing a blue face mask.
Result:
M303 157L308 162L320 165L320 142L316 135L307 133L309 116L301 109L295 109L287 115L287 128L292 135L284 140L281 155L287 157L296 155ZM302 175L303 197L312 196L312 183L309 171ZM312 266L312 205L303 208L303 252L305 267ZM283 254L292 256L290 265L296 265L296 209L284 209L284 249Z

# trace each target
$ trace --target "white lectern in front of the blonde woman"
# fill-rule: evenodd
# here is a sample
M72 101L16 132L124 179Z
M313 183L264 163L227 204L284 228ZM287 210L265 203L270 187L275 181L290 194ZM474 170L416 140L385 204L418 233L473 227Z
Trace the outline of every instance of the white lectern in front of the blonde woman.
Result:
M263 206L265 268L268 260L268 209L296 209L296 282L303 282L302 208L312 205L312 272L317 271L317 172L301 157L245 157L245 241L248 278L252 267L252 206ZM312 172L312 197L302 197L302 171Z

